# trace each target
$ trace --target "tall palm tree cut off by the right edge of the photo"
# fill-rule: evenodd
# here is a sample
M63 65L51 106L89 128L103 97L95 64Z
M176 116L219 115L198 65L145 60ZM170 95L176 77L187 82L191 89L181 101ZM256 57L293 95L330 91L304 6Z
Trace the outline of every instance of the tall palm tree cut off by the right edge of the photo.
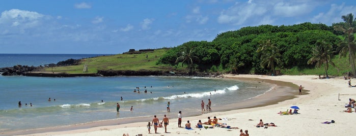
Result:
M334 29L337 31L344 32L345 39L339 44L340 56L345 56L348 53L349 63L351 64L351 69L353 76L356 76L356 65L355 65L355 53L356 53L356 44L354 40L353 33L356 30L355 21L356 18L353 18L353 14L349 13L341 17L345 21L345 25L334 26Z

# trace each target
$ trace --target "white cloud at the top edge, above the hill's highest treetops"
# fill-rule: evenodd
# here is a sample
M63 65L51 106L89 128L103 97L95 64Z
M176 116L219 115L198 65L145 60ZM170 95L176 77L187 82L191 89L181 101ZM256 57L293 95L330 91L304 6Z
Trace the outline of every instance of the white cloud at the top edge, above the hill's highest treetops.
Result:
M305 15L313 10L313 6L307 3L277 3L273 7L273 14L284 17Z

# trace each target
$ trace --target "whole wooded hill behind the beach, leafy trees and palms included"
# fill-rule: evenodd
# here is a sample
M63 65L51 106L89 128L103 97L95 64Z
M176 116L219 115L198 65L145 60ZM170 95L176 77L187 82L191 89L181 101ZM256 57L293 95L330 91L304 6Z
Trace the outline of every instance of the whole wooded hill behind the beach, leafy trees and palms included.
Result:
M169 50L157 64L186 67L190 73L234 74L278 74L276 70L295 66L314 69L324 64L327 72L328 65L334 64L331 58L350 53L347 41L354 44L355 19L351 13L342 19L345 22L332 26L306 22L243 27L220 33L211 42L186 42ZM354 55L347 56L351 59Z

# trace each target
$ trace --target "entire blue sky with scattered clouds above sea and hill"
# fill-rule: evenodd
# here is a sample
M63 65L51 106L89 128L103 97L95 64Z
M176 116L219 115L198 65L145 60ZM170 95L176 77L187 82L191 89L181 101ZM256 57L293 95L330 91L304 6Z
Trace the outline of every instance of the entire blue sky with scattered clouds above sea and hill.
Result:
M119 54L212 41L245 26L331 25L355 15L356 2L13 0L0 12L0 53Z

